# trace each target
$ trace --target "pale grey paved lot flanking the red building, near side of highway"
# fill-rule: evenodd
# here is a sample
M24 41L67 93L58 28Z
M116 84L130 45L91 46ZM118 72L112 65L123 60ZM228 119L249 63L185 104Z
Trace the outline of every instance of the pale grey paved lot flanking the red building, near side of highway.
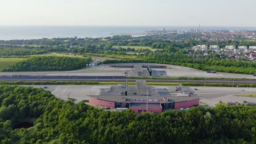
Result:
M32 85L26 85L32 86ZM48 86L45 90L51 91L51 93L63 100L67 100L68 93L70 98L77 99L75 103L88 99L88 95L99 95L100 88L110 88L109 85L33 85L35 88L43 88ZM256 93L256 88L237 88L237 87L195 87L185 86L188 91L193 92L192 96L199 96L200 101L205 102L209 107L215 107L215 104L222 102L239 102L243 101L256 102L256 98L251 97L238 97L236 94L243 93ZM195 90L197 88L198 90ZM176 86L154 86L152 93L156 96L161 95L178 95L183 94L181 91L175 91ZM71 93L70 93L71 92ZM129 94L129 93L128 93Z

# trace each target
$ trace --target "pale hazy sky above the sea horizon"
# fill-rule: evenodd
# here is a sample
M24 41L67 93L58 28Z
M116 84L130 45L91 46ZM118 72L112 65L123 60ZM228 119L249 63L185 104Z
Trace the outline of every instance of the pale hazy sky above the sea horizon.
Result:
M0 25L256 26L256 0L1 0Z

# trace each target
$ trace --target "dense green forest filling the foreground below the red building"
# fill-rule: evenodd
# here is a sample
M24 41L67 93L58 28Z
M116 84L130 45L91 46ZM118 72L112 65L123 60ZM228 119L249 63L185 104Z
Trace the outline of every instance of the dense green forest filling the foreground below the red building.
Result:
M16 128L21 123L30 128ZM255 143L256 107L192 107L161 114L110 112L56 99L42 88L0 85L0 143Z

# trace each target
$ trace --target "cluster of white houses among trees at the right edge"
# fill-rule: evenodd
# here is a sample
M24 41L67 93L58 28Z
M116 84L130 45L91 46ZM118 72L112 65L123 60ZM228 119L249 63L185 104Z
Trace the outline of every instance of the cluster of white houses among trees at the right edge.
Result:
M202 53L197 53L197 57L203 58L208 56L208 49L211 49L214 53L219 53L221 56L226 56L230 59L240 59L246 58L254 60L256 59L256 46L245 46L240 45L236 47L236 45L226 45L225 48L220 48L219 45L197 45L190 50L190 53L195 53L196 51L203 51Z

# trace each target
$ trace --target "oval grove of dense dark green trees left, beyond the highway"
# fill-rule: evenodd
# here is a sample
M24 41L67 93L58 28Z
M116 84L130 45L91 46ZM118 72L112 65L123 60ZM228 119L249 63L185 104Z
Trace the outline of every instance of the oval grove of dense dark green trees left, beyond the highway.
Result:
M86 67L91 58L67 56L31 56L24 61L9 65L4 71L51 71Z

